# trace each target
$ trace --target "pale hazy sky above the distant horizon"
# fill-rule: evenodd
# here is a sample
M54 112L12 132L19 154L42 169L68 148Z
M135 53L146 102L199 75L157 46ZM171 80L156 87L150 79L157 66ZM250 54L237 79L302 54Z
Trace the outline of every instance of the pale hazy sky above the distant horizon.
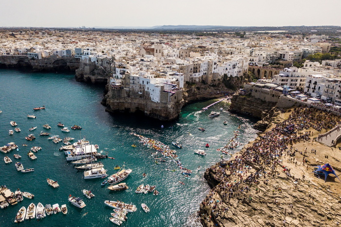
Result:
M0 0L0 26L341 25L341 0Z

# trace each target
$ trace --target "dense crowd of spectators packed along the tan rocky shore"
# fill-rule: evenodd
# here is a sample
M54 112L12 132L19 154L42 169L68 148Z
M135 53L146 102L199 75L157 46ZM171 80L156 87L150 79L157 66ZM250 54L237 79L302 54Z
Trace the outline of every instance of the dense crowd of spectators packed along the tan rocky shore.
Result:
M209 171L213 173L211 176L218 184L202 202L203 205L214 207L213 210L215 210L222 204L221 201L212 199L212 195L216 192L226 204L219 210L228 210L228 204L232 197L249 192L251 187L255 188L252 193L259 192L258 184L261 181L267 184L266 177L280 175L280 171L288 178L293 178L294 183L297 183L299 179L296 179L290 173L290 168L283 164L283 156L288 156L290 162L294 161L295 153L298 151L293 150L292 144L311 140L312 131L309 129L330 130L338 123L341 123L340 118L331 113L322 114L322 110L312 107L295 108L287 120L267 131L260 140L256 140L251 146L244 148L238 156L228 161L221 161L210 168ZM300 153L303 154L302 151ZM304 150L304 154L306 154L306 150ZM303 165L306 161L307 159L303 157ZM277 190L282 192L281 189ZM243 202L252 202L252 193L248 195L246 193L243 195Z

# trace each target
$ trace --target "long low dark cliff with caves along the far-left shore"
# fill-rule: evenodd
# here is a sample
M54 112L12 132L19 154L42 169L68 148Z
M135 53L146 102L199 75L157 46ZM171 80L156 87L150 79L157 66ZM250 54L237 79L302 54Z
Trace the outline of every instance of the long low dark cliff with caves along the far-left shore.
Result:
M33 60L25 55L1 55L0 68L28 68L32 71L75 71L79 68L79 59L51 56Z

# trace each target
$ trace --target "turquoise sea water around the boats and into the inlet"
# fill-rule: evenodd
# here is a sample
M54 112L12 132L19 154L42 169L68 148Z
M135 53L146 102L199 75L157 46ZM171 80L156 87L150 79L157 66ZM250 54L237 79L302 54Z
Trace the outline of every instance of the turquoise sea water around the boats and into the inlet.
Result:
M127 222L122 226L129 227L178 227L199 226L195 222L195 214L199 210L200 202L209 190L203 175L205 169L221 160L221 152L216 149L224 146L227 140L233 137L233 131L241 125L238 141L243 144L256 137L256 130L252 128L253 120L232 115L227 111L227 104L221 102L201 112L205 107L216 100L198 102L183 108L178 120L173 122L160 122L133 114L112 115L105 112L105 107L100 104L103 98L104 87L78 83L73 74L62 73L31 73L17 70L0 70L0 146L15 142L19 151L7 154L12 163L5 164L0 152L0 185L6 185L12 192L17 188L35 195L32 200L24 198L17 205L0 210L0 226L18 226L14 223L17 211L31 202L38 204L66 204L68 214L62 213L47 216L40 220L25 220L19 226L60 226L60 227L102 227L114 226L109 221L111 208L104 205L105 200L120 200L136 205L137 211L128 214ZM34 111L32 108L45 105L46 109ZM210 119L210 111L223 111L219 117ZM36 119L28 119L27 114L35 114ZM224 125L223 121L228 124ZM21 132L14 132L10 136L8 131L14 129L11 121L18 123ZM83 130L72 130L63 133L57 123L62 122L71 129L74 124L83 127ZM50 124L51 129L42 127ZM164 128L161 128L164 125ZM30 134L28 129L32 126L38 128L32 133L36 140L27 141L25 136ZM205 132L198 127L204 127ZM39 137L40 131L80 139L86 137L93 144L98 144L103 154L108 152L109 157L115 159L101 159L109 175L114 174L114 166L124 163L133 173L124 181L129 189L121 192L110 192L106 187L101 187L103 179L84 180L83 172L77 171L68 163L63 152L58 150L61 143L55 144L47 137ZM193 170L190 179L185 179L179 168L172 161L156 164L152 149L143 146L138 138L130 135L131 132L159 140L167 145L172 141L179 141L183 149L176 149L185 168ZM189 135L189 132L191 135ZM22 144L28 144L27 147ZM205 149L208 155L200 157L193 154L194 149ZM136 147L132 147L136 144ZM42 150L35 155L37 160L31 160L27 152L32 146L41 146ZM175 149L175 147L173 147ZM241 146L233 152L241 149ZM14 163L17 161L13 154L22 156L24 168L34 168L35 172L23 174L18 172ZM224 155L225 156L225 155ZM225 156L228 158L228 156ZM201 169L197 171L198 166ZM165 171L166 168L176 169L177 172ZM146 173L147 177L142 177ZM53 189L48 186L46 178L58 181L60 187ZM180 185L178 180L184 181ZM160 192L158 196L136 194L134 191L140 184L156 185ZM81 192L82 189L91 190L95 197L87 199ZM86 204L84 209L78 209L68 202L68 196L79 196ZM141 203L149 206L151 212L145 213ZM85 213L88 212L86 215Z

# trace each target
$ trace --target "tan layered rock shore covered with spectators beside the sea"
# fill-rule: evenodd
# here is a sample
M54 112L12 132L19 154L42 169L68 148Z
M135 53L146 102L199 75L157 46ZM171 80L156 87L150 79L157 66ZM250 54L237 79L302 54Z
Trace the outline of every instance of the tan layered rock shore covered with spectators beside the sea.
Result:
M316 118L317 126L298 124L297 136L289 140L279 128L300 122L295 111L309 120ZM256 140L206 170L204 177L212 189L200 204L198 218L204 227L337 226L341 222L341 182L333 175L324 182L312 174L314 166L326 162L340 168L336 149L313 140L340 117L312 108L274 115L271 126ZM329 120L319 124L319 116Z

